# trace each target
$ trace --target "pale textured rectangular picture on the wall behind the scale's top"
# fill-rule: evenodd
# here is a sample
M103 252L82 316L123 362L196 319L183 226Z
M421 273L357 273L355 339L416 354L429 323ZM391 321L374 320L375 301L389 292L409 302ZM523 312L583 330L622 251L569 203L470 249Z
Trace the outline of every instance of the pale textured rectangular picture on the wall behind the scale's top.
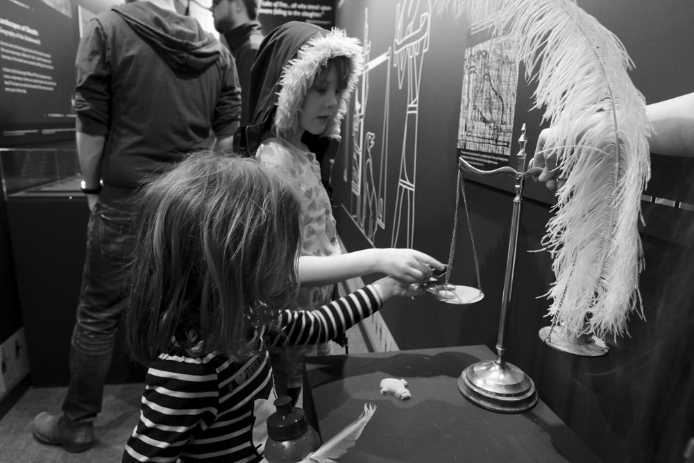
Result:
M466 49L457 148L471 164L508 164L517 85L518 61L509 40Z

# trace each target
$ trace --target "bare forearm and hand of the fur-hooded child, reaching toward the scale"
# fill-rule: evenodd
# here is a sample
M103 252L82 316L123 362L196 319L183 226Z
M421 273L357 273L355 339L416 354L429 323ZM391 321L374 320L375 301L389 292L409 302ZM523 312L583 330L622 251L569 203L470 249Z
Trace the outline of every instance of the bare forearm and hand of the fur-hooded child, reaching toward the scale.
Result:
M302 255L298 262L299 282L302 285L330 285L369 273L384 273L416 283L432 273L432 268L446 266L430 255L414 249L363 249L342 255L316 257Z

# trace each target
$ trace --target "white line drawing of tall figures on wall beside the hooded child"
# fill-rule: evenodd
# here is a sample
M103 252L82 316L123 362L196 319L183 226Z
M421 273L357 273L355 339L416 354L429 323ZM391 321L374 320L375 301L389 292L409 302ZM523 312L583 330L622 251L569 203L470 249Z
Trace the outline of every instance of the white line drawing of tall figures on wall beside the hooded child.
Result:
M362 231L372 246L378 230L391 226L391 247L413 247L414 195L416 185L417 130L419 90L424 55L429 49L431 28L431 3L429 0L406 0L396 6L396 28L391 47L371 58L369 40L369 12L364 8L364 51L366 67L361 85L357 87L354 108L351 113L351 138L353 149L346 150L343 180L350 183L350 205L343 208ZM386 66L384 117L381 133L365 126L369 102L369 76ZM389 99L391 67L396 68L398 90L404 90L407 98L396 201L393 211L387 211L387 153L389 146ZM380 145L380 150L375 149ZM375 172L378 165L378 175ZM387 217L393 217L387 224Z

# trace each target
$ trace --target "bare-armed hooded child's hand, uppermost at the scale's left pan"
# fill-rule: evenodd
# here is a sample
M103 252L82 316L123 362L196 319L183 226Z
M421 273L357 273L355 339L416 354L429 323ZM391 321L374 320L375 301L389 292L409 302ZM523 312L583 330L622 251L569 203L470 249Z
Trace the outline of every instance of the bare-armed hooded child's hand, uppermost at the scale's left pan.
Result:
M432 269L443 270L446 265L430 255L414 249L378 249L377 267L380 273L398 278L403 283L421 283L432 275Z

